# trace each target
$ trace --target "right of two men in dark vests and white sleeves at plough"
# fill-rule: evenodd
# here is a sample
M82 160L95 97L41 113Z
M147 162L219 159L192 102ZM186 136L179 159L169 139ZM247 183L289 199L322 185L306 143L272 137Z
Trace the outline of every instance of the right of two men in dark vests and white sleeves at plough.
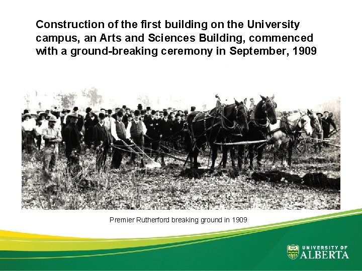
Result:
M130 139L134 144L143 150L144 138L143 134L147 132L147 128L142 120L139 119L140 111L135 110L134 119L128 124L126 128L126 138ZM142 154L140 154L143 157ZM131 154L131 163L135 163L136 155ZM141 167L143 167L143 159L141 159Z

